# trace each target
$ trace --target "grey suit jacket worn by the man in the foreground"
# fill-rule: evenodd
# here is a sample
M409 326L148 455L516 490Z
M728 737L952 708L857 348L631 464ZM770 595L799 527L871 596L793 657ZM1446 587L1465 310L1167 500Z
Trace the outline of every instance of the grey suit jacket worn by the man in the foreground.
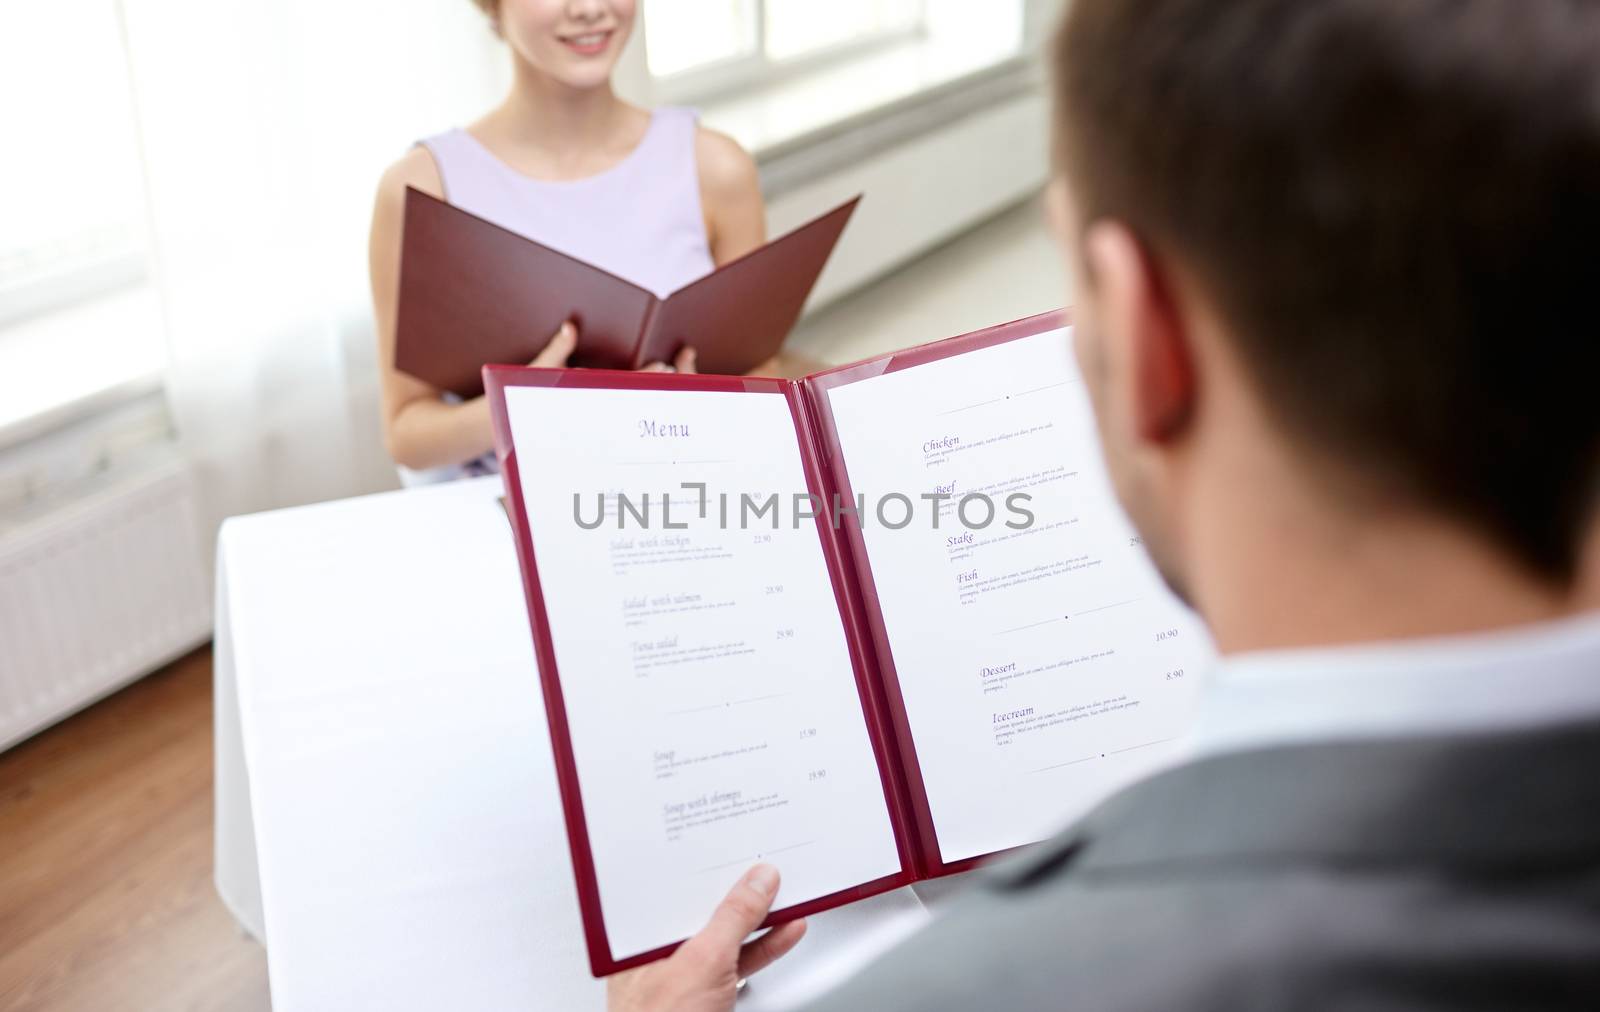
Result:
M1600 725L1171 770L814 1009L1600 1010Z

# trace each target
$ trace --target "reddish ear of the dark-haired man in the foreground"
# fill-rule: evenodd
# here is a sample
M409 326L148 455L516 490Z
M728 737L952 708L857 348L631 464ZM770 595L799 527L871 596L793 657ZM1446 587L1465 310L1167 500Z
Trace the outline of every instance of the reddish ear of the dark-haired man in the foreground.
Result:
M1168 279L1126 226L1101 221L1083 235L1083 259L1094 279L1099 325L1114 341L1107 380L1139 439L1171 442L1195 405L1189 333Z

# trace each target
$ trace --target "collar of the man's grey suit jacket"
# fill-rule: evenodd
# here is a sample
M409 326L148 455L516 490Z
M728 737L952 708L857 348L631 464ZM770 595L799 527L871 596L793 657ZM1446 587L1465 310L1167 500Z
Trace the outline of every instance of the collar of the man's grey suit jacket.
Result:
M1600 673L1595 673L1600 677ZM1427 865L1517 871L1600 861L1600 722L1498 735L1294 745L1182 765L1117 794L992 871Z

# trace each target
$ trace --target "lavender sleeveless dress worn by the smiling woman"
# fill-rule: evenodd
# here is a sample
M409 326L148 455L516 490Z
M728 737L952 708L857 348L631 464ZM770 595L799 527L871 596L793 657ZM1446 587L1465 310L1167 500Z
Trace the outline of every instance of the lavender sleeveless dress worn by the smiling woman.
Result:
M434 155L450 203L666 296L714 267L694 130L693 109L656 109L632 154L603 173L568 181L525 176L464 130L421 144ZM491 453L459 468L400 468L400 480L418 485L496 469Z

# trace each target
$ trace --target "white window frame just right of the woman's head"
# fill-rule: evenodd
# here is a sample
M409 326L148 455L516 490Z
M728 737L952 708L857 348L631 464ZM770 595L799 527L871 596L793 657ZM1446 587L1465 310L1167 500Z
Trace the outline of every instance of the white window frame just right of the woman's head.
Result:
M651 91L656 101L664 102L712 101L741 90L779 85L877 50L923 38L928 34L928 3L926 0L915 0L915 3L917 14L909 24L869 32L802 56L771 59L766 54L766 0L752 0L755 22L755 50L752 53L730 56L664 77L651 74ZM645 48L648 53L648 30L645 32ZM645 66L648 70L648 56Z

